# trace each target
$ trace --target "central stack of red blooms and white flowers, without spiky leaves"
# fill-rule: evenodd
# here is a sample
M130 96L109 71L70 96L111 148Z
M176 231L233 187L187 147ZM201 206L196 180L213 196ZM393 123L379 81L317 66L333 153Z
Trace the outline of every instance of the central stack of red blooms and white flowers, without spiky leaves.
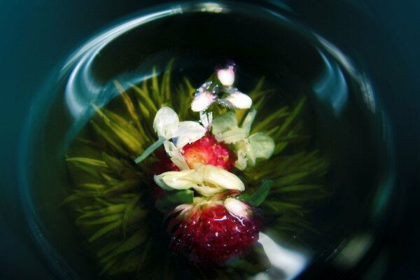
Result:
M216 74L193 98L191 109L200 112L200 120L180 121L173 109L162 107L153 123L158 141L136 162L164 146L172 169L154 174L154 181L165 191L156 202L158 209L172 209L167 214L172 217L168 224L172 251L192 262L222 265L244 255L258 241L260 228L258 204L243 199L246 182L232 169L244 170L258 159L268 159L274 141L267 134L251 134L257 111L251 109L251 98L232 86L235 65ZM209 111L213 105L227 110L213 119ZM235 109L251 109L241 125Z

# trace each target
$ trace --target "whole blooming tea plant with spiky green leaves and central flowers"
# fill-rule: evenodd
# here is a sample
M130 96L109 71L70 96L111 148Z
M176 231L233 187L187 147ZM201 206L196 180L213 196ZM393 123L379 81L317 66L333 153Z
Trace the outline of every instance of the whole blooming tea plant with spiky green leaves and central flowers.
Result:
M64 204L102 274L262 272L258 232L310 228L305 203L327 194L318 182L328 161L302 145L305 99L258 116L270 94L264 79L240 92L228 64L196 90L187 78L174 87L171 68L127 90L115 82L118 110L94 106L68 151L73 186Z

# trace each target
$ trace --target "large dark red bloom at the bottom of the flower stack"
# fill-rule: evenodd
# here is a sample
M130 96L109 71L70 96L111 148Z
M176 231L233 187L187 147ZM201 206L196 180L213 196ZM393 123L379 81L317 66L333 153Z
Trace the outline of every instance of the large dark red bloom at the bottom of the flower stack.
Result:
M258 241L260 221L249 207L239 217L225 208L223 201L185 205L171 218L170 247L176 254L200 265L223 265L245 255Z

